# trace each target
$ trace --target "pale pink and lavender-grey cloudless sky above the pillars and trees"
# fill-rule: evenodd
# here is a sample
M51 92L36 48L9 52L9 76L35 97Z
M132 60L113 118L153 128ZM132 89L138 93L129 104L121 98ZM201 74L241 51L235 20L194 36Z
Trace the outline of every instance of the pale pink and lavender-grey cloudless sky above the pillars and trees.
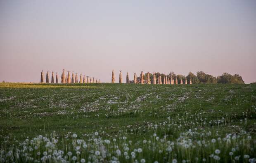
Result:
M255 62L255 0L0 1L0 81L65 69L111 82L114 69L116 82L143 70L251 83Z

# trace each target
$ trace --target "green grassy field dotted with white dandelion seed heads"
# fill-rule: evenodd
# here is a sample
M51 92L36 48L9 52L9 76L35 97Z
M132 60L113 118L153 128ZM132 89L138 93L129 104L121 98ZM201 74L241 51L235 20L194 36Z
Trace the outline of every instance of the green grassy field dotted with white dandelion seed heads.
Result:
M256 161L256 85L0 83L0 162Z

